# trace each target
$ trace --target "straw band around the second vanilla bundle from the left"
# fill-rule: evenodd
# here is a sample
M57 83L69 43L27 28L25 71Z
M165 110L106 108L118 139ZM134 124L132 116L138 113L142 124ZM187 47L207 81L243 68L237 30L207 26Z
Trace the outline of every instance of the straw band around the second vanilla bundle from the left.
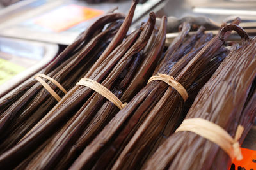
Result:
M76 83L76 85L83 85L86 87L89 87L90 89L94 90L95 92L99 93L111 103L115 104L120 110L126 106L127 103L122 103L110 90L108 90L106 87L98 83L97 81L94 81L89 78L81 78L81 80Z

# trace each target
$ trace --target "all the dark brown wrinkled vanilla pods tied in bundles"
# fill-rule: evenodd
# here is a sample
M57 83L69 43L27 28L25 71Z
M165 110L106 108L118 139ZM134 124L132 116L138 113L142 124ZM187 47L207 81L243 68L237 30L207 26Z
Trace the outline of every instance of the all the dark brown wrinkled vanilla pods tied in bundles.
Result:
M4 169L227 169L230 157L193 132L175 132L187 118L204 118L240 142L256 114L256 39L232 24L216 36L203 26L179 35L165 48L166 17L127 34L137 1L127 17L108 13L68 46L42 73L68 91L45 82L58 102L31 80L0 101L0 167ZM243 45L225 46L232 29ZM184 99L156 74L172 76L188 93ZM118 108L81 78L97 81L122 103Z

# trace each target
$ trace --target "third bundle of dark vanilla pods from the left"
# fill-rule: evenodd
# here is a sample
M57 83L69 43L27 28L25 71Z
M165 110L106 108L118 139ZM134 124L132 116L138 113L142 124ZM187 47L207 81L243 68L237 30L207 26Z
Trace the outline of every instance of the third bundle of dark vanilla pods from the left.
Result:
M234 21L236 24L239 22L238 18ZM211 34L204 34L204 28L201 27L195 35L185 38L189 29L188 24L182 25L182 31L169 46L159 69L155 71L173 76L185 89L195 88L194 83L200 80L200 73L209 78L220 64L216 57L227 54L227 49L223 50L224 41L220 41L218 36L212 38ZM229 34L230 32L226 34L225 39ZM214 64L214 59L218 64ZM213 71L208 70L211 64L215 66L212 67ZM204 83L199 85L202 87ZM183 108L183 104L180 94L168 88L163 81L148 83L85 148L71 169L109 169L116 160L114 169L141 166L150 150L154 150L154 143L157 143L159 135L165 131L164 128L166 127L166 135L170 135L182 121L184 115L179 114L179 110ZM138 136L135 137L136 141L131 141L134 133ZM125 146L130 147L129 150L124 150L125 153L120 155Z

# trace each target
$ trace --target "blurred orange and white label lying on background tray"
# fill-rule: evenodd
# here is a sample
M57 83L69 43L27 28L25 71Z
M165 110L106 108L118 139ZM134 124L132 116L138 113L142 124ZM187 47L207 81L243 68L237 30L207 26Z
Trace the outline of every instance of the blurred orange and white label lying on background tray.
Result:
M52 31L61 32L103 13L101 10L69 4L35 18L34 23Z

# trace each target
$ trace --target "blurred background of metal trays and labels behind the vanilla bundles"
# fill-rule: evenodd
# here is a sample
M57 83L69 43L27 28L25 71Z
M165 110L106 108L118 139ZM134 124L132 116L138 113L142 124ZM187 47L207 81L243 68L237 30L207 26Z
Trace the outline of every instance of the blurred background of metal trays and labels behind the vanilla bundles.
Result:
M100 15L116 9L127 13L131 0L0 0L0 97L45 67ZM218 31L222 22L237 16L255 35L256 0L141 0L132 28L147 20L168 16L168 39L179 25L205 25Z

